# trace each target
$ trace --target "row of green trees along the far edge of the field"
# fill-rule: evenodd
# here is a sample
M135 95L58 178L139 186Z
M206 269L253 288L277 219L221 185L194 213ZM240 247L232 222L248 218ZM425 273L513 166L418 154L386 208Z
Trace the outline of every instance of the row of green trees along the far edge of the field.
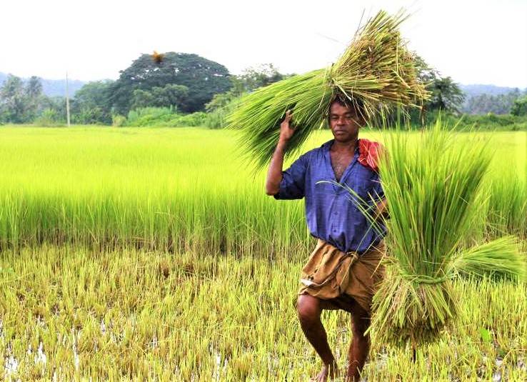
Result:
M417 57L417 64L418 76L431 92L431 99L423 105L427 112L441 110L456 115L466 112L468 107L474 114L525 113L526 94L520 91L471 97L465 102L468 106L463 106L463 91L451 77L441 76L420 57ZM141 54L120 71L119 79L91 81L82 86L71 99L71 121L74 124L115 124L116 120L126 121L131 111L169 108L170 113L182 115L206 112L209 127L223 127L224 116L241 95L291 75L281 74L272 64L251 67L234 75L224 65L197 54ZM199 114L192 120L202 121L201 117ZM45 126L64 123L65 119L64 97L45 96L41 80L36 76L23 81L9 75L0 87L0 124Z

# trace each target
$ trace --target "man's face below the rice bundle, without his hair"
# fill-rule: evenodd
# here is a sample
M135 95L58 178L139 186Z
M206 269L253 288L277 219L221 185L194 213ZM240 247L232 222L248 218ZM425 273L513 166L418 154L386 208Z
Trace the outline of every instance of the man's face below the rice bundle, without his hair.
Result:
M364 124L362 116L358 116L354 109L342 106L336 102L329 109L329 127L335 141L347 143L355 141L358 129Z

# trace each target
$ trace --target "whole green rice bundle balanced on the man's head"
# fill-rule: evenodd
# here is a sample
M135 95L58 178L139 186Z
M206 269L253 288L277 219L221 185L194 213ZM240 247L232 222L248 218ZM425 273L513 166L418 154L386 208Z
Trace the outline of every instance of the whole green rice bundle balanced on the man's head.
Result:
M292 109L296 133L286 156L295 154L315 129L326 124L328 106L337 94L360 101L369 120L394 106L418 106L428 97L417 79L413 54L398 26L406 19L380 11L358 29L338 61L327 69L293 76L258 89L241 99L229 116L229 128L241 131L241 149L256 168L268 164L280 123Z

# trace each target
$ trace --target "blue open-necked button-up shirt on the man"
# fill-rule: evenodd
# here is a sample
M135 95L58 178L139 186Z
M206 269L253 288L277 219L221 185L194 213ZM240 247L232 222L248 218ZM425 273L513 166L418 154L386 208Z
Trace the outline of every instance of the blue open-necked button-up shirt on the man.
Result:
M331 144L333 140L308 151L283 171L280 191L274 197L306 198L306 221L311 235L341 251L363 253L381 241L386 228L382 225L374 228L358 203L375 211L376 202L384 198L384 192L378 173L358 162L358 144L340 184L355 191L361 199L343 186L328 183L336 182L329 154Z

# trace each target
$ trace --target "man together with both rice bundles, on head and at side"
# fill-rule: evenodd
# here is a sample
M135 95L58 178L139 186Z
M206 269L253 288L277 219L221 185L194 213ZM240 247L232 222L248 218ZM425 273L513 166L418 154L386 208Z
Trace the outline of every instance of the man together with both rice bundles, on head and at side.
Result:
M306 199L307 225L318 243L302 269L296 308L323 361L318 381L338 376L323 309L351 313L346 380L358 381L369 338L382 346L409 344L416 361L418 346L455 322L456 278L526 279L516 238L470 236L491 164L485 143L456 141L441 119L413 139L383 131L386 155L375 142L358 139L361 126L428 99L416 57L398 31L404 19L402 11L379 11L333 65L257 89L229 116L256 169L271 162L266 193ZM283 171L284 158L326 123L334 139Z

